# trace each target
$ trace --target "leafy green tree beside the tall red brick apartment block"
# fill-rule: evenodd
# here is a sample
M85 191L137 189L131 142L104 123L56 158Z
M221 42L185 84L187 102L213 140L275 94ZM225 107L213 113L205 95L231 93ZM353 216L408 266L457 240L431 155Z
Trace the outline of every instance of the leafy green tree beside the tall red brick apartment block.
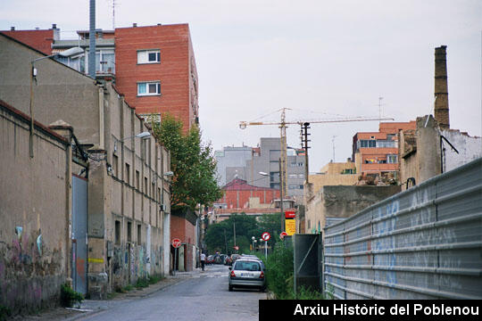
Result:
M199 128L182 133L182 121L165 114L161 124L152 123L154 136L170 152L171 210L195 210L222 197L216 184L216 161L211 144L204 144Z

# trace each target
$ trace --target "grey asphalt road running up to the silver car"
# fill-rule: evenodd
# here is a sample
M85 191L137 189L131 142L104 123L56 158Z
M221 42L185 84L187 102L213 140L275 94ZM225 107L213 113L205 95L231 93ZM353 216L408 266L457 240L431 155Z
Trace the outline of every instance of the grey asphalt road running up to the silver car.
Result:
M129 300L81 320L258 320L257 290L228 291L229 269L213 265L206 271L143 299Z

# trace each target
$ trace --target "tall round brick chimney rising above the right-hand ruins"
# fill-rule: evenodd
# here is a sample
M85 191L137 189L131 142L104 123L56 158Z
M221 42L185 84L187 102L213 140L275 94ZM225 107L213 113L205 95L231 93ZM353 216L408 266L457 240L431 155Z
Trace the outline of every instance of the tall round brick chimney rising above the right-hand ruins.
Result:
M447 52L446 45L436 48L435 68L435 119L440 128L450 128L447 86Z

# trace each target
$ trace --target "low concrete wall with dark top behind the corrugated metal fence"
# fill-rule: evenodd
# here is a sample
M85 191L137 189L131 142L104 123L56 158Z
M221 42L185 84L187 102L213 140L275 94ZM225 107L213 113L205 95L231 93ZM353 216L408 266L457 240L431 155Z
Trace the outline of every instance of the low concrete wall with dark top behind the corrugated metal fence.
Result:
M319 233L326 218L349 218L400 192L400 186L323 186L306 204L306 233Z

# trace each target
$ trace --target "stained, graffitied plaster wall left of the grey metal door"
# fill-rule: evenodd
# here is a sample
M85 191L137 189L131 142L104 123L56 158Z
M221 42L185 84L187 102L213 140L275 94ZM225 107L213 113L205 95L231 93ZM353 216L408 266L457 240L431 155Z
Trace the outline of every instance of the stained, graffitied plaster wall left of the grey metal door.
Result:
M29 119L2 104L0 306L16 313L57 304L70 276L71 149L36 126L30 158Z

